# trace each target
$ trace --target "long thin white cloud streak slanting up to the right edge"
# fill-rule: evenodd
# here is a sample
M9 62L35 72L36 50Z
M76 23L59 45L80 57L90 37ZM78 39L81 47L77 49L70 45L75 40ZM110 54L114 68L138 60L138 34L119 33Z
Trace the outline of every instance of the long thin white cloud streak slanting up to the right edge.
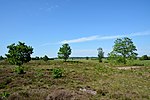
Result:
M72 40L63 40L60 42L60 44L64 43L79 43L79 42L87 42L87 41L95 41L95 40L110 40L110 39L116 39L116 38L122 38L122 37L135 37L135 36L145 36L150 35L150 32L138 32L138 33L131 33L131 34L124 34L124 35L114 35L114 36L90 36L90 37L83 37L78 39L72 39Z

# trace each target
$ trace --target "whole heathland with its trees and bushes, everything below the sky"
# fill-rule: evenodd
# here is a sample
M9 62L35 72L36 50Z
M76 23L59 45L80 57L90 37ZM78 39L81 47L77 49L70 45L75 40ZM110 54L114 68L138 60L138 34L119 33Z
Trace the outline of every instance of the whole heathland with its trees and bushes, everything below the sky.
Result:
M69 57L69 44L58 58L31 58L33 48L22 42L7 48L0 56L0 100L150 99L150 59L137 57L130 38L117 39L108 57L102 48L97 57Z

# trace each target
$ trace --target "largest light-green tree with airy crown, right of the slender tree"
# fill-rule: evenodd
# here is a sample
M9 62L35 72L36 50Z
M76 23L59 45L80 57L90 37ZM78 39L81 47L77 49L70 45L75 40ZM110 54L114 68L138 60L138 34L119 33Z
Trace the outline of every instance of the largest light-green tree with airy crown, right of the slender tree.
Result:
M113 51L109 54L109 57L119 57L124 64L126 64L127 59L135 59L137 56L136 46L133 44L132 40L128 37L122 39L117 39L114 42Z

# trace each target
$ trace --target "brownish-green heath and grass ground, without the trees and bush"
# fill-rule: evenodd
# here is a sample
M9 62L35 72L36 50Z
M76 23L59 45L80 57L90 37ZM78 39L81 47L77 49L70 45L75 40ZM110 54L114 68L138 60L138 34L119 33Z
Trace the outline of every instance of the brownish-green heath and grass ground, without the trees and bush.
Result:
M133 65L141 66L119 70L97 60L30 61L19 75L14 65L0 62L0 94L9 100L149 100L150 61ZM54 68L62 69L63 77L54 79Z

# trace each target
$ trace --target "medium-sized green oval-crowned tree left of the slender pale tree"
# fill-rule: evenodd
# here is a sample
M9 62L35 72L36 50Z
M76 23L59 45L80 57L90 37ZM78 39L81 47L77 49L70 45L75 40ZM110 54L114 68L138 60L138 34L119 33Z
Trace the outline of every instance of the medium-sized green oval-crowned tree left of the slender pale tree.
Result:
M60 47L58 52L58 58L66 60L69 58L69 55L71 54L71 48L69 44L63 44L62 47Z

